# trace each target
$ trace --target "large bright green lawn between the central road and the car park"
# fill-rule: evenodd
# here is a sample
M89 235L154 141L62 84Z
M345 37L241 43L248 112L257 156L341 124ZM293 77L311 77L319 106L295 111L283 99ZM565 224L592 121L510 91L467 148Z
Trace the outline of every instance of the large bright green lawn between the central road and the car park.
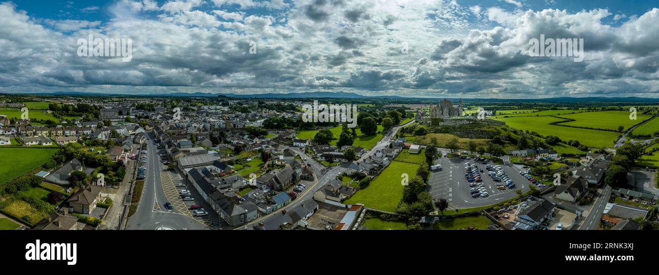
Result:
M401 176L407 173L409 177L416 175L418 164L392 161L382 173L368 186L360 189L345 204L362 203L366 207L393 212L403 197Z

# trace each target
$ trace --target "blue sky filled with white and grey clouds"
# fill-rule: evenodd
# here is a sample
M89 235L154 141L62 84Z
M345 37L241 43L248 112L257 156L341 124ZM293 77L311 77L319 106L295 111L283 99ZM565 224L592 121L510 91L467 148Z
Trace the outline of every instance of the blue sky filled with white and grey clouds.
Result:
M14 0L0 2L0 93L656 98L657 6L561 0ZM90 34L130 39L131 51L118 52L121 57L82 51ZM541 35L583 39L583 61L531 55L529 41ZM126 53L129 59L122 58Z

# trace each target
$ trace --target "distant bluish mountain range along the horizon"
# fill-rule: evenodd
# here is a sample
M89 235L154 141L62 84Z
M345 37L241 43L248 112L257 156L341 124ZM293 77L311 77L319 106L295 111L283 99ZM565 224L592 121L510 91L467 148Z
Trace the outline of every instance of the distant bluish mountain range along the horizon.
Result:
M30 93L30 95L73 95L73 96L138 96L138 97L231 97L231 98L345 98L345 99L425 99L428 97L400 97L398 95L366 96L345 91L310 91L303 93L258 93L258 94L236 94L236 93L144 93L127 95L123 93L92 93L85 91L55 91L52 93ZM440 98L440 97L438 97ZM457 101L457 98L448 98ZM465 101L537 101L537 102L659 102L659 98L644 97L548 97L543 99L494 99L494 98L465 98Z

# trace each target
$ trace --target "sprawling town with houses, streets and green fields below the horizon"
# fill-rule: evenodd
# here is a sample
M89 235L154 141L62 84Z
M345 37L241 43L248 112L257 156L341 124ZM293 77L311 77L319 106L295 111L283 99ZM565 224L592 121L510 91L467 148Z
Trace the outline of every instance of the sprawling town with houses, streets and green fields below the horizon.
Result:
M0 95L1 224L658 228L656 105L637 106L638 119L629 120L623 103L575 109L531 101L508 108L470 99L351 101L356 128L340 119L304 121L312 108L304 99ZM538 125L545 118L561 121ZM617 133L580 126L584 119ZM552 127L594 134L546 129Z

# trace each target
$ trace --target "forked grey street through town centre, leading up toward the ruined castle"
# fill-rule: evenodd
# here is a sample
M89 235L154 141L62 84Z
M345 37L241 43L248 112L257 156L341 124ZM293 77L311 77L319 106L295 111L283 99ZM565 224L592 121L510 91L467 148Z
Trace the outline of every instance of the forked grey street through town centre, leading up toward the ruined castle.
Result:
M406 124L391 128L391 130L389 130L389 132L387 132L387 134L384 135L382 139L380 139L380 141L378 141L378 143L374 145L372 149L370 149L370 151L362 155L359 160L364 160L368 158L370 155L372 155L378 149L382 149L389 146L389 141L391 141L391 137L395 136L401 127L407 126L411 123L414 123L414 120L411 120ZM235 229L248 229L250 226L253 226L254 224L258 224L258 222L267 222L270 218L272 218L274 214L281 214L282 210L295 209L295 207L298 207L304 201L307 201L308 199L313 199L314 193L316 193L316 191L318 191L319 189L325 187L328 184L329 180L335 178L338 173L343 173L347 171L347 168L341 165L330 168L329 170L325 170L326 167L324 165L320 164L319 162L314 160L314 158L304 153L304 151L302 151L302 148L291 147L287 145L283 145L283 147L287 149L291 149L293 152L300 155L302 159L306 159L306 163L309 164L312 170L314 171L316 180L314 180L312 186L307 186L306 189L302 191L302 193L298 194L297 199L295 199L295 201L293 201L292 203L289 203L289 205L286 205L285 207L282 207L280 210L277 210L273 213L267 214L265 216L261 216L256 220L252 220L252 222L249 222L248 224L245 224L244 226L240 226L239 228L235 228ZM325 173L323 174L324 170ZM320 177L318 175L320 175Z

